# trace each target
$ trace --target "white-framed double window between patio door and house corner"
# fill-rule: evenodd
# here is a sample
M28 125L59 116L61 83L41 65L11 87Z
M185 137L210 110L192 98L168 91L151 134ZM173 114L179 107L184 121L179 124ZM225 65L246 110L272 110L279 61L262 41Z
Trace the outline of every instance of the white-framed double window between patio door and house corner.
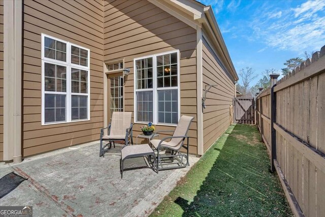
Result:
M179 51L136 58L136 122L176 125L180 117Z

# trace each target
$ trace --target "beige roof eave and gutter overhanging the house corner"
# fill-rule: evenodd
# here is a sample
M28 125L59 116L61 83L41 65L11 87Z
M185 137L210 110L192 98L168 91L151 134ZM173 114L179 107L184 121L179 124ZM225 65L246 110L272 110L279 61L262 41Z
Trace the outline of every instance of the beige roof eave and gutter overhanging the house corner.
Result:
M205 30L205 33L212 39L217 50L223 55L223 64L226 65L225 67L228 68L235 81L239 80L211 6L205 6L196 0L149 1L155 2L157 5L163 5L165 7L163 9L169 13L173 10L178 15L187 19L193 28L196 25L201 26Z

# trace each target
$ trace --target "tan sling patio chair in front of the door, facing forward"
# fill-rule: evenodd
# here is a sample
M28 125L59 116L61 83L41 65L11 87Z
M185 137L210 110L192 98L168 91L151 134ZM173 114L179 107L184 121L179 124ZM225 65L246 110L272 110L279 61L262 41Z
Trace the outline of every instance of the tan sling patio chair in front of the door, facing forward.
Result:
M124 146L130 142L133 144L133 123L131 123L131 118L132 112L113 112L111 123L108 127L101 129L100 157L103 156L104 158L105 152L112 148L112 143L115 148L115 141L123 141ZM108 131L107 136L104 136L105 129ZM103 146L104 140L108 141L105 146Z

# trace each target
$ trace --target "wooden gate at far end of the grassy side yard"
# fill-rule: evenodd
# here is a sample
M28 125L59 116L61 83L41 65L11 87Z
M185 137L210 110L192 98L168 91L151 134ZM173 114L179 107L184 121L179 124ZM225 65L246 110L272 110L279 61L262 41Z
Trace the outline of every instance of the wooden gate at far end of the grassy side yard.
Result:
M255 124L254 98L236 97L235 118L236 123Z

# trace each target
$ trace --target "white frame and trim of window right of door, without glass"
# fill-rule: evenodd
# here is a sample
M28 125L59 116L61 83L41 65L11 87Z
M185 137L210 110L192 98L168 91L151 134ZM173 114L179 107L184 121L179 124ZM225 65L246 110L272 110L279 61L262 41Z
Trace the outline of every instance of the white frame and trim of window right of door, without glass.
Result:
M165 54L171 54L171 53L176 53L177 52L177 87L158 87L157 88L157 56L160 55L165 55ZM137 89L136 88L136 60L139 59L145 59L152 57L152 87L153 88L148 88L148 89ZM177 101L178 101L178 120L181 115L181 100L180 100L180 52L179 50L173 50L173 51L168 51L168 52L163 52L163 53L157 53L157 54L152 54L152 55L147 55L147 56L142 56L142 57L137 57L134 58L133 60L134 64L134 122L135 123L141 123L141 124L146 124L148 122L142 122L142 121L137 121L137 92L138 91L153 91L153 124L158 125L158 126L177 126L175 123L158 123L158 93L157 90L166 90L166 89L177 89Z

